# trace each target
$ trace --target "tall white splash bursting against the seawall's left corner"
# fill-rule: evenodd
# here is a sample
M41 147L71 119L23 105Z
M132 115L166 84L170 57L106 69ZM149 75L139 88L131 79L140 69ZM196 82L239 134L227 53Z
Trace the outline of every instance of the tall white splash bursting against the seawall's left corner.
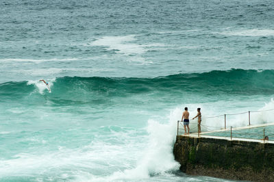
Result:
M136 164L135 168L114 172L105 181L147 179L151 174L163 174L165 172L179 170L179 163L173 156L173 144L176 138L177 120L182 111L177 108L169 116L169 122L161 124L155 120L148 121L147 132L149 141L145 151ZM95 181L92 179L91 181ZM96 181L101 181L97 179Z

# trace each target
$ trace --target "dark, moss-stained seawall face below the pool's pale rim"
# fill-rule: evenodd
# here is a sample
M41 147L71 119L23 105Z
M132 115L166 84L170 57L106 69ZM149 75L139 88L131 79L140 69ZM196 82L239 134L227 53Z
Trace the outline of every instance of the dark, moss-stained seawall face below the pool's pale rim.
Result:
M186 174L274 181L274 144L177 135L173 153Z

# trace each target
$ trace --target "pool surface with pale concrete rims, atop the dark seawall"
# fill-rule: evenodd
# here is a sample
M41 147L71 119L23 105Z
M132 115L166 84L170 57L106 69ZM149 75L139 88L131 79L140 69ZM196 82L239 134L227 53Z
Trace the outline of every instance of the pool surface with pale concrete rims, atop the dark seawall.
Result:
M203 128L203 125L201 125L201 127ZM178 135L184 135L184 129L181 129ZM202 131L199 134L194 132L186 136L191 138L214 138L274 144L274 122L232 129L229 127L227 129L218 129L214 131ZM268 136L269 140L264 140L265 136Z

